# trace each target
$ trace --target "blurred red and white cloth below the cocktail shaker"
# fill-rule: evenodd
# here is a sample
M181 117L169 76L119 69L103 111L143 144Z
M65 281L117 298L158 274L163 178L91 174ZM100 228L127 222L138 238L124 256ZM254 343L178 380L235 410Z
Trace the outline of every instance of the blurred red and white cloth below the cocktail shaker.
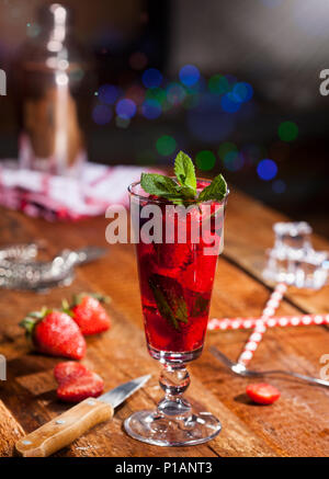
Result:
M0 162L0 204L48 220L80 219L104 214L109 205L128 206L127 186L139 180L141 167L87 163L79 180L20 169Z

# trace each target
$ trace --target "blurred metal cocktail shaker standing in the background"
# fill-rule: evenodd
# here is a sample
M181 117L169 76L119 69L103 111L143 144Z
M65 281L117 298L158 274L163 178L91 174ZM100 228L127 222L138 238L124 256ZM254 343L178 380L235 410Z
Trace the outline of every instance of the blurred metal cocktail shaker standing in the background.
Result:
M72 38L65 5L43 7L38 25L38 35L25 44L16 68L20 166L79 176L87 160L79 110L80 103L88 110L91 98L91 61Z

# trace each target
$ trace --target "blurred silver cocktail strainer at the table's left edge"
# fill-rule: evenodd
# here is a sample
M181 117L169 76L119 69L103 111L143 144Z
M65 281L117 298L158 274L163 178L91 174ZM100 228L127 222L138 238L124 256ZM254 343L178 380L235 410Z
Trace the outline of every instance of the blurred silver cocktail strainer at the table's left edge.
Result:
M0 287L7 289L44 290L54 286L68 286L75 266L97 260L105 254L104 248L87 247L63 250L50 261L34 261L37 246L18 244L0 249Z

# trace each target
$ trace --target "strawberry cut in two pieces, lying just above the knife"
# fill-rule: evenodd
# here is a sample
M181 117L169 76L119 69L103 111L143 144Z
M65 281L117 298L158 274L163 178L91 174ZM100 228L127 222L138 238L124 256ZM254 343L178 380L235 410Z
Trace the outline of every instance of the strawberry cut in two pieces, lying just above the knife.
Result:
M66 402L97 398L104 389L104 381L98 374L71 361L57 364L54 375L58 383L57 397Z

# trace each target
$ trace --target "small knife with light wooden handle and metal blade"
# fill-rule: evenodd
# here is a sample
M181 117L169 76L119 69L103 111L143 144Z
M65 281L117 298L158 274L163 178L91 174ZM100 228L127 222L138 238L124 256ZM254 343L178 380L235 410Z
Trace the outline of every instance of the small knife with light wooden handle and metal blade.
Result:
M150 374L124 383L95 398L87 398L79 404L22 437L15 448L24 457L47 457L68 446L94 425L113 418L114 409L141 388Z

